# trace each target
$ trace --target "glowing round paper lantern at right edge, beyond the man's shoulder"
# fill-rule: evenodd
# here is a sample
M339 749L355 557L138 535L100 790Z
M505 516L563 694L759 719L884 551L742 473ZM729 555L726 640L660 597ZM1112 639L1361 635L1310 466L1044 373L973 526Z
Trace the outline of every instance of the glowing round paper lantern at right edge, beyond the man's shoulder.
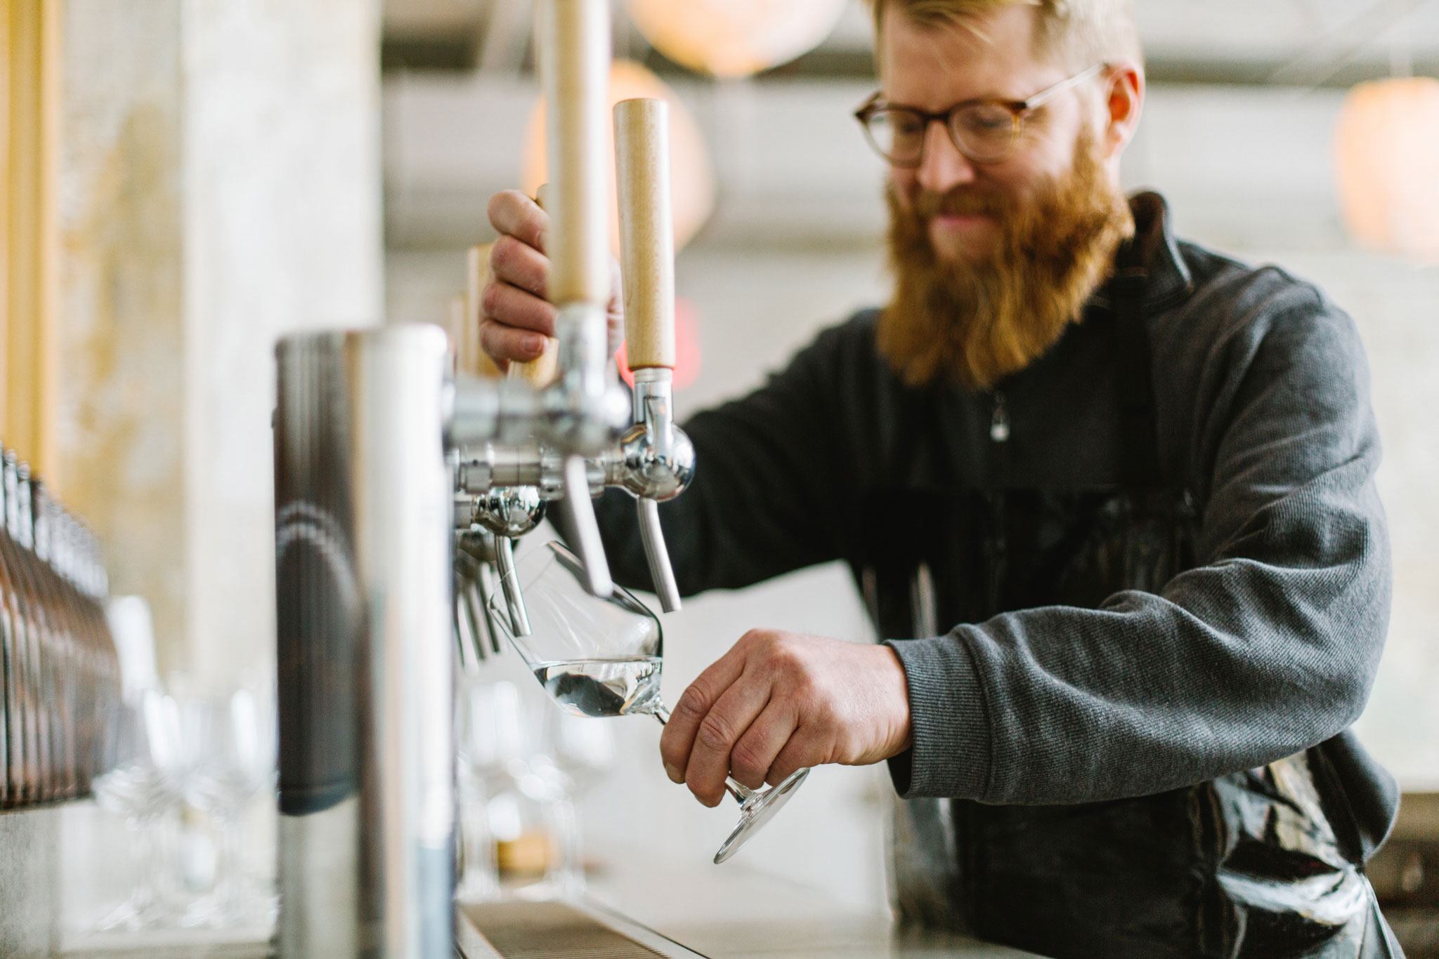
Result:
M1356 240L1439 263L1439 81L1376 81L1350 91L1334 168Z

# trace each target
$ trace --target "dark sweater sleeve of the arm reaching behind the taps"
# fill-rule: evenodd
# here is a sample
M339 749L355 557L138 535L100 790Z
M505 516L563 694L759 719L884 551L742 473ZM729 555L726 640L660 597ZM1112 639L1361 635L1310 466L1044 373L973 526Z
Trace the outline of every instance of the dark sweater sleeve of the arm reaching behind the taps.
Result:
M836 453L835 371L846 326L825 331L754 393L682 424L695 476L661 503L665 543L684 595L734 589L840 555L836 520L845 473ZM597 503L619 582L650 589L635 500Z

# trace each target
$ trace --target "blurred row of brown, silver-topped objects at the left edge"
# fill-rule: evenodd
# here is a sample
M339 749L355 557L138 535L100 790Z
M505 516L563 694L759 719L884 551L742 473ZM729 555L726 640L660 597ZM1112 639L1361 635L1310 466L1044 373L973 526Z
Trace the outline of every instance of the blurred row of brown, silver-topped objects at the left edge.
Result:
M0 807L89 795L111 763L121 676L95 535L4 451L0 482Z

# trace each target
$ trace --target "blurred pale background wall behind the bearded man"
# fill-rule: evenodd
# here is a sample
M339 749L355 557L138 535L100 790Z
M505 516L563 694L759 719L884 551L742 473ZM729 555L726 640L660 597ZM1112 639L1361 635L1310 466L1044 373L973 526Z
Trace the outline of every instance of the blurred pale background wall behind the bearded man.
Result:
M465 247L488 242L485 201L518 187L535 88L527 3L389 0L384 7L386 311L445 316ZM652 4L630 4L649 7ZM1439 789L1439 267L1360 247L1341 217L1335 127L1347 89L1439 70L1439 4L1380 0L1140 0L1153 83L1130 188L1157 188L1181 236L1274 262L1322 286L1368 347L1394 536L1389 650L1361 722L1409 791ZM678 262L699 367L692 411L745 391L814 332L882 302L882 167L850 112L875 88L859 0L799 60L757 76L698 76L652 49L616 4L616 53L669 85L702 129L718 204ZM1439 118L1416 118L1439 124ZM681 171L676 171L681 175ZM1439 168L1436 168L1439 175ZM869 637L848 574L823 566L666 617L671 699L745 628ZM496 667L504 670L512 667ZM517 683L528 690L522 671ZM583 808L591 840L707 855L725 817L659 769L655 730L625 729L619 769ZM884 900L889 789L875 769L826 768L741 857L853 903ZM642 838L636 838L642 837Z

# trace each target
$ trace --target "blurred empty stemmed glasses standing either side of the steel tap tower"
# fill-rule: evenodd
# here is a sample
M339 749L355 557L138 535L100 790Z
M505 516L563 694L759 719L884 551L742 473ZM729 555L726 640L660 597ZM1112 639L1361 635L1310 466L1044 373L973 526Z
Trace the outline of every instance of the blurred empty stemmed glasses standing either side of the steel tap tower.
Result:
M96 929L263 927L273 884L248 874L246 809L273 798L272 693L240 687L220 699L140 690L121 707L115 768L95 782L99 805L125 822L134 881ZM465 682L456 702L456 897L551 899L584 889L574 802L610 772L609 723L570 716L508 680ZM181 812L213 827L209 891L184 864Z

